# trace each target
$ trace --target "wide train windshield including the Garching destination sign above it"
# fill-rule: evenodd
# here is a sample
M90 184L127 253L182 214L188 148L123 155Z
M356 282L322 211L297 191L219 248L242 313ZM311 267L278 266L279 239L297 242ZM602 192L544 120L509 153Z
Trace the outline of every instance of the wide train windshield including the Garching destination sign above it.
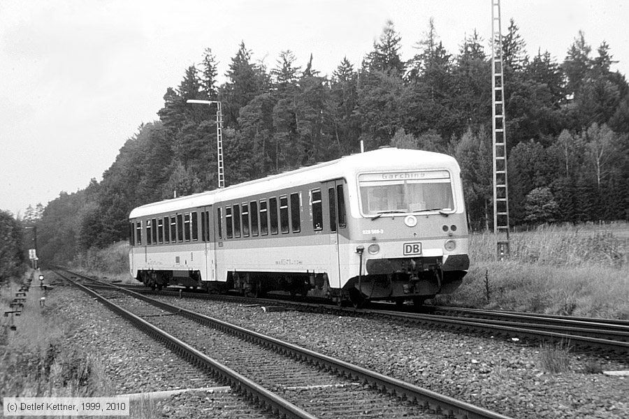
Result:
M366 216L454 211L447 170L365 173L359 175L359 188Z

